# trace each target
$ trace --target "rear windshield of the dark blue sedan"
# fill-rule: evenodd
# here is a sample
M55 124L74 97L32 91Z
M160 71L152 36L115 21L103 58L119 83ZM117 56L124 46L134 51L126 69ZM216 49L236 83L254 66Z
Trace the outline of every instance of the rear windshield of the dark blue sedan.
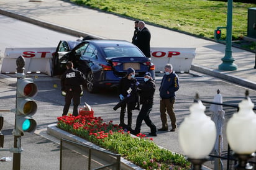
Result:
M135 47L106 47L103 48L106 58L115 58L115 57L127 57L127 56L139 56L145 57L142 52L140 52Z

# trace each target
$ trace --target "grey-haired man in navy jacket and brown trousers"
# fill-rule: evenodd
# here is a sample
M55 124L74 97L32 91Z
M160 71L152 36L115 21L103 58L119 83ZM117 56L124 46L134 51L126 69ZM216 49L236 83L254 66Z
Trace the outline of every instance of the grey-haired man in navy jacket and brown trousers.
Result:
M173 73L173 66L170 64L165 65L165 75L160 84L160 117L162 120L162 128L158 131L167 131L167 113L171 119L171 132L176 130L176 116L173 110L175 103L175 92L180 88L178 75ZM167 111L167 113L166 113Z

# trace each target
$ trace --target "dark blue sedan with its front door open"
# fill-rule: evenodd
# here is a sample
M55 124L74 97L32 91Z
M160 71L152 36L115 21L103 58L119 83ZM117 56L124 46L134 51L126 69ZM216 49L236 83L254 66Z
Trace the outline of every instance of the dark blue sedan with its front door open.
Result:
M64 41L63 41L64 42ZM58 45L62 46L60 43ZM155 79L155 65L134 44L124 40L86 40L78 43L73 50L57 51L53 57L56 74L65 71L67 61L86 76L89 92L97 89L114 88L126 75L127 68L135 69L135 78L144 83L144 74L149 71Z

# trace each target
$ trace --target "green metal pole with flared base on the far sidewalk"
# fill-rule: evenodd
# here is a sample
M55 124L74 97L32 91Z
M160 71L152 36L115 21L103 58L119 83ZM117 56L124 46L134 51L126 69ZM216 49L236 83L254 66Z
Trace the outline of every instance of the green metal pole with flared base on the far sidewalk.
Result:
M227 1L227 38L225 56L221 58L222 64L219 65L220 70L233 71L237 69L237 65L233 62L235 59L232 57L232 9L233 0Z

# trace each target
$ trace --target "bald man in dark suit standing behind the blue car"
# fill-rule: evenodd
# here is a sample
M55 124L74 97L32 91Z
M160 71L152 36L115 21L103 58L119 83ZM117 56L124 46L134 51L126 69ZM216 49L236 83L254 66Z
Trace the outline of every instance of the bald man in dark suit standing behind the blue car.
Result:
M135 37L134 44L140 48L140 50L144 53L145 56L150 58L150 38L151 34L149 29L145 27L145 22L139 21L138 23L139 32Z

